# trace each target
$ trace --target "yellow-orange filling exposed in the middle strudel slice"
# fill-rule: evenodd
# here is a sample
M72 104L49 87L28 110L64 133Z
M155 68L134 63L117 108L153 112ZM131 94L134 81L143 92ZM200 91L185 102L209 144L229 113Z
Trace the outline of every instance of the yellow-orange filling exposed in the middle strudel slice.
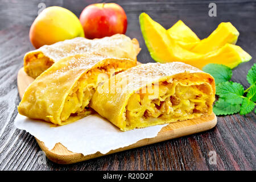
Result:
M108 80L112 73L112 76L114 76L117 72L124 71L125 69L124 65L122 67L122 65L108 64L86 72L76 82L76 85L73 86L72 91L65 99L60 115L61 122L73 122L91 114L93 110L88 105L98 84Z

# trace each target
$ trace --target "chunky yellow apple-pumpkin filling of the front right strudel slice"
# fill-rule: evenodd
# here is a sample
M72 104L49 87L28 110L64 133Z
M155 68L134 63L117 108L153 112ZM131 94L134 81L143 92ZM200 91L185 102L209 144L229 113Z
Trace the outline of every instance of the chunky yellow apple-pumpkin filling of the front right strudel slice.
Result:
M199 118L212 112L210 85L185 85L177 80L142 88L129 98L124 117L126 128Z

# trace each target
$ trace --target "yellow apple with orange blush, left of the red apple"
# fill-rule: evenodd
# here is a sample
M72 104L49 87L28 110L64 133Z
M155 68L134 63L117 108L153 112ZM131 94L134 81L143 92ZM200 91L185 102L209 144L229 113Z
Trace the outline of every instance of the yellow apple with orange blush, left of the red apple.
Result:
M30 41L35 48L66 39L84 37L80 20L71 11L59 7L47 7L30 27Z

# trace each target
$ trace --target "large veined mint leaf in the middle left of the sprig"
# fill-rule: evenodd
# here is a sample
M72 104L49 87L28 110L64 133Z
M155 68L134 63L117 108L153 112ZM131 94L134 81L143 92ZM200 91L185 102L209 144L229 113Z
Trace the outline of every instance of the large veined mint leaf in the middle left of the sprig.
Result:
M216 86L216 94L231 104L241 104L245 90L237 82L221 82Z

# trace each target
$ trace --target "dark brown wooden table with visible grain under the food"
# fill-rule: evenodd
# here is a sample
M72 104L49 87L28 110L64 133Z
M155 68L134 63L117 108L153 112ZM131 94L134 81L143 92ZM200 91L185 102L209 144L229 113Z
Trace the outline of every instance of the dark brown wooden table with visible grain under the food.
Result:
M6 1L0 0L0 169L1 170L255 170L255 114L218 117L214 129L161 143L119 152L77 164L63 166L47 159L40 164L40 148L26 131L15 129L16 106L20 99L16 76L23 56L34 49L28 38L29 27L38 13L38 4L63 6L80 15L93 1ZM101 1L97 1L101 2ZM109 2L109 1L105 1ZM208 16L212 1L111 1L125 9L127 36L137 38L142 51L138 60L153 62L144 44L138 16L148 13L169 28L183 20L201 39L220 22L232 22L240 31L238 46L253 56L249 63L234 69L232 81L249 86L246 73L256 57L255 1L214 1L217 16ZM217 164L209 163L209 152L217 154Z

